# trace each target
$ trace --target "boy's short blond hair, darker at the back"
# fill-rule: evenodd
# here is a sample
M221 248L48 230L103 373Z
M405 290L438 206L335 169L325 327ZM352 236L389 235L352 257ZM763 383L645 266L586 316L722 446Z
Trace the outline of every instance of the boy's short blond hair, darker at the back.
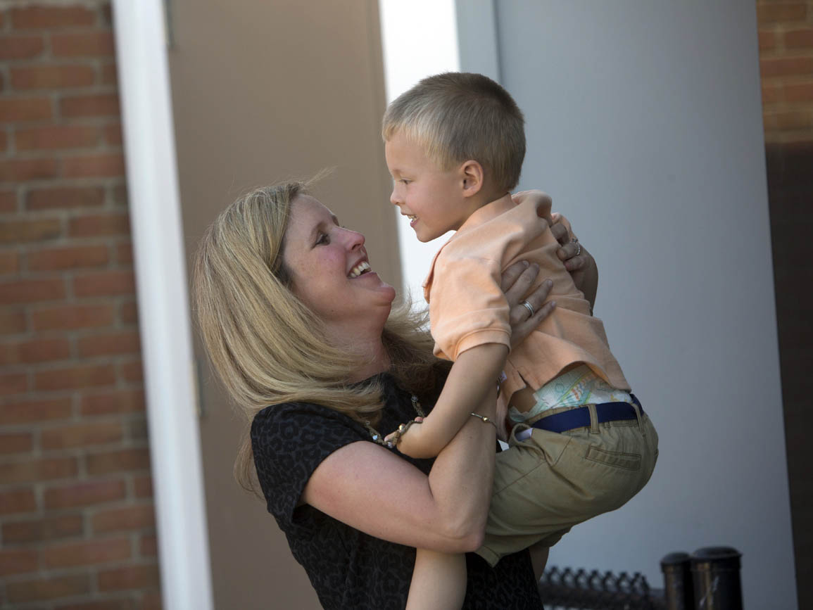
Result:
M525 158L525 119L514 98L481 74L428 76L387 108L384 141L398 133L422 146L444 170L473 159L494 188L510 191Z

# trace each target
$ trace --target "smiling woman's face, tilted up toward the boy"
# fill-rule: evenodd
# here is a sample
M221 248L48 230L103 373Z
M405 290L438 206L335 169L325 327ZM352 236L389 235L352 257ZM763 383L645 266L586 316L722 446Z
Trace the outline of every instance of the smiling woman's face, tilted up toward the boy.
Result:
M282 259L293 277L293 293L328 325L383 320L395 289L372 270L364 236L341 227L324 205L309 195L291 204ZM382 322L383 326L383 322Z

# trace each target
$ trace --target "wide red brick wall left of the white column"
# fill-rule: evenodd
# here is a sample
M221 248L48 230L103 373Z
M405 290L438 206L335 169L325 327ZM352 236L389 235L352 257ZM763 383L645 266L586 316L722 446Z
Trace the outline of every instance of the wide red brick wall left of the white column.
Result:
M0 0L0 608L158 608L110 6Z

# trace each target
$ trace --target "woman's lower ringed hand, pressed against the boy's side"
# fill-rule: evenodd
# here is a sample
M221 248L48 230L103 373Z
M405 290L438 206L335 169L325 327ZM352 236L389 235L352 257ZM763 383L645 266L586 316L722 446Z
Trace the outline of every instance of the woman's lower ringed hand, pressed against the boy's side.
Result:
M502 272L500 288L508 301L508 322L511 324L511 348L522 343L534 328L554 310L556 301L545 302L553 283L546 279L539 288L530 288L539 275L539 266L528 262L515 262ZM528 307L524 304L528 303Z

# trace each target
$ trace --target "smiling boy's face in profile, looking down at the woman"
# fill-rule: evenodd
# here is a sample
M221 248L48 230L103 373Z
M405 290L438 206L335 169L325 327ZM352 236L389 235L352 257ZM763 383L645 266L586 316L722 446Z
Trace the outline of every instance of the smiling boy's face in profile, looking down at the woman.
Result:
M410 227L420 241L431 241L446 231L455 231L473 210L463 197L463 175L458 168L443 170L424 149L398 132L385 145L393 194L389 197L401 214L411 219Z

